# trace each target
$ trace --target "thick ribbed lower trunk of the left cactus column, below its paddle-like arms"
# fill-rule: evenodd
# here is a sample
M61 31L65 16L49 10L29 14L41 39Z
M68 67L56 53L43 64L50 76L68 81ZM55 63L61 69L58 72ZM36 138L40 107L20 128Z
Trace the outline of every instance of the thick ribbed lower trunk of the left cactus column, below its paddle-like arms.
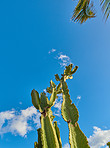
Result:
M41 115L41 129L43 148L59 148L55 128L48 116Z

